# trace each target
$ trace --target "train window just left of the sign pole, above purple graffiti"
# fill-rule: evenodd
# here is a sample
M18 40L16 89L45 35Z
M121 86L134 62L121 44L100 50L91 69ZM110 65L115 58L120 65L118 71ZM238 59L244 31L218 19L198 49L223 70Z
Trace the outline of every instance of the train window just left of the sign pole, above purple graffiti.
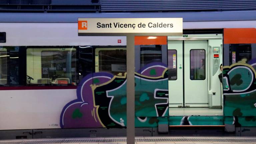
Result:
M123 75L126 72L125 48L96 48L95 72L109 72Z

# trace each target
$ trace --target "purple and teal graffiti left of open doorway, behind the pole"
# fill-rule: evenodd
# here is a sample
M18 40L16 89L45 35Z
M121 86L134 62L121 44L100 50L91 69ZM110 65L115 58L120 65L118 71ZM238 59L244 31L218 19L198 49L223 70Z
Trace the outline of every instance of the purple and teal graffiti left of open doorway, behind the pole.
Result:
M157 126L162 117L169 115L167 70L162 63L151 63L135 73L136 127ZM77 87L77 99L64 106L61 127L125 127L126 84L126 73L87 75Z

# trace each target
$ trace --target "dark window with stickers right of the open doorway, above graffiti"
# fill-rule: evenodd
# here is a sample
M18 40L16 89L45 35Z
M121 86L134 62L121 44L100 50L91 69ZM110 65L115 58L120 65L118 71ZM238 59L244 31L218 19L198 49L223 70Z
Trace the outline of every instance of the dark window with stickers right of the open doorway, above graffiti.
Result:
M251 44L230 44L229 65L233 63L248 63L252 59Z

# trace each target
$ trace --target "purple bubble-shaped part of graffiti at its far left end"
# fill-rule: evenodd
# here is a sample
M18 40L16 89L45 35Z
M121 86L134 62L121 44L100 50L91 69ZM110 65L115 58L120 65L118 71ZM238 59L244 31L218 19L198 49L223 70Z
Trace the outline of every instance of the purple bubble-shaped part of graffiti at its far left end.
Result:
M77 87L77 99L69 102L62 110L60 117L61 128L90 128L103 127L94 105L92 85L100 85L113 78L106 72L89 74L84 77Z

